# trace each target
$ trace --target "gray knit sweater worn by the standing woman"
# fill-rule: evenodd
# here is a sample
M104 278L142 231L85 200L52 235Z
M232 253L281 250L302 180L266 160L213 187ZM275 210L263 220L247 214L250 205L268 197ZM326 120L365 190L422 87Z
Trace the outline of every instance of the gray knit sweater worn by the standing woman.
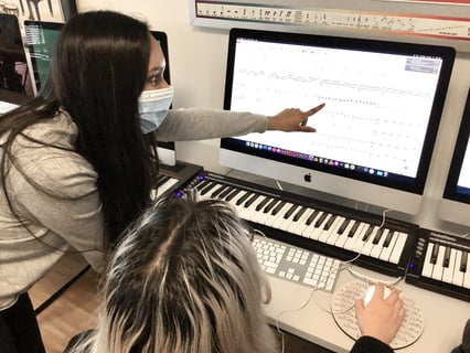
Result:
M260 115L179 109L169 113L157 133L162 141L197 140L264 132L267 125L268 119ZM62 111L24 133L73 149L77 128ZM77 153L33 143L24 137L17 138L13 153L33 183L13 165L8 175L10 200L34 236L11 214L0 190L0 310L11 307L64 252L82 252L97 271L103 270L105 254L102 244L106 229L92 165Z

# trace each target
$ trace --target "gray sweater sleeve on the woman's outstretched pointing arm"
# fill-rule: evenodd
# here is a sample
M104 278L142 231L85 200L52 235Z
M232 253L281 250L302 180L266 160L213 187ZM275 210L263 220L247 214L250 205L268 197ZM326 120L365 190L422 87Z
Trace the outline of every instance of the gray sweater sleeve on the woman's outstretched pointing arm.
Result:
M268 118L264 115L220 109L188 108L168 113L157 130L161 141L190 141L248 132L265 132Z

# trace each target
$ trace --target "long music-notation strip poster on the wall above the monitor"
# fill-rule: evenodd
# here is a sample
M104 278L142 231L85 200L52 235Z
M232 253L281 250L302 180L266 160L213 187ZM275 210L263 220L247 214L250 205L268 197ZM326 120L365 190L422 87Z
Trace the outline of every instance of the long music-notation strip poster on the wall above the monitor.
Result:
M394 8L397 8L398 2L394 3ZM382 3L387 4L391 1L382 1ZM400 6L404 6L403 2ZM430 7L429 3L420 3L420 6ZM453 6L441 4L441 7ZM470 51L470 7L466 4L457 7L462 10L457 11L459 15L439 15L354 9L301 9L263 3L195 0L193 24L218 28L246 26L244 24L261 28L263 24L271 26L278 24L302 26L310 30L366 31L385 35L451 40L460 42L461 49L462 46L467 47L464 51Z

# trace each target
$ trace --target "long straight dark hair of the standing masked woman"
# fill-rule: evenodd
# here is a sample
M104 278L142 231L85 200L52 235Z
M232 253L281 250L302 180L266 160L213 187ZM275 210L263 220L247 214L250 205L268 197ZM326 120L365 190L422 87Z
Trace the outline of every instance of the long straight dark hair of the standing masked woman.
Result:
M52 119L60 109L68 113L78 129L74 152L98 173L105 246L149 204L158 173L156 140L142 136L137 118L148 72L149 35L146 23L117 12L77 14L58 38L39 95L0 118L0 137L8 136L1 146L0 182L8 195L8 161L14 163L15 137L31 125ZM9 204L12 210L11 200Z

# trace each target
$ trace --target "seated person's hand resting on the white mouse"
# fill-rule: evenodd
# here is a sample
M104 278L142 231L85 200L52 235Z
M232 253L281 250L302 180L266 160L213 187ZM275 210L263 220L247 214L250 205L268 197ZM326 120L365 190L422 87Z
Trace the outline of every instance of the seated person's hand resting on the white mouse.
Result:
M403 301L398 291L393 289L384 299L384 285L376 284L372 300L364 307L364 300L355 302L359 328L363 335L375 338L384 343L389 343L402 324L405 317Z

